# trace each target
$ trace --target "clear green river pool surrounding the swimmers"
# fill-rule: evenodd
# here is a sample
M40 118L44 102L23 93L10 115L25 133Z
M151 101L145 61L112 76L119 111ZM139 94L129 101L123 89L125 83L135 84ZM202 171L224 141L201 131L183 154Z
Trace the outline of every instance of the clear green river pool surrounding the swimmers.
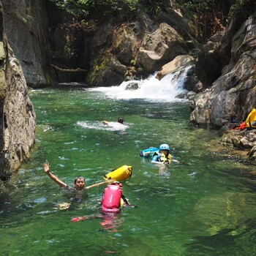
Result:
M189 102L69 87L30 97L37 140L0 197L0 255L256 255L255 167L222 147L216 130L192 127ZM118 116L127 129L102 124ZM139 156L161 143L179 161L164 170ZM75 176L88 186L132 165L123 191L137 207L100 217L105 185L70 195L45 175L46 159L71 186ZM86 215L98 218L71 222Z

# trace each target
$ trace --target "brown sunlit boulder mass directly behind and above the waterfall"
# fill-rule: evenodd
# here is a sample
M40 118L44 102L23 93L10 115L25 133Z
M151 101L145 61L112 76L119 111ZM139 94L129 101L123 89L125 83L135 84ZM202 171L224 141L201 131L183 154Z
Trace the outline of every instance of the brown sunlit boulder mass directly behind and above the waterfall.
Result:
M92 38L86 83L118 85L150 75L176 56L192 54L198 42L195 26L188 26L187 19L169 10L155 19L141 15L130 23L107 23Z

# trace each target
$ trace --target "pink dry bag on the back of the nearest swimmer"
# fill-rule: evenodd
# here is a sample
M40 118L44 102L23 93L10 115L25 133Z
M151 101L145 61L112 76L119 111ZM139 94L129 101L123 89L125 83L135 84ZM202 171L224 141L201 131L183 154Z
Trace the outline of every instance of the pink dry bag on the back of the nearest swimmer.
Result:
M120 200L122 195L122 186L119 182L114 182L105 188L102 211L118 212L120 210Z

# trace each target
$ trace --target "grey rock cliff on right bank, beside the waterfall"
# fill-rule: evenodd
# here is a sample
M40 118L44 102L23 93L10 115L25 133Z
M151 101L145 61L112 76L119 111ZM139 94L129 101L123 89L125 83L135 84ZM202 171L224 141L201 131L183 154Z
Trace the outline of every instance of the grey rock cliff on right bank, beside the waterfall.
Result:
M232 37L227 36L231 33L233 33ZM213 44L213 48L207 50L204 48L201 59L198 59L201 62L197 64L197 67L200 67L197 72L201 74L204 71L215 72L220 63L222 70L219 78L216 73L208 79L202 78L201 75L201 81L205 82L204 87L208 88L197 94L192 104L190 120L195 124L222 127L230 121L231 116L235 116L240 121L245 120L252 108L255 108L256 20L253 18L245 20L238 27L236 34L233 26L230 26L224 35L224 38L227 37L229 43L223 39L220 44ZM230 50L223 54L223 49L227 49L227 45L230 45ZM229 62L227 62L228 56L230 56ZM209 81L214 80L214 76L217 80L211 86Z

